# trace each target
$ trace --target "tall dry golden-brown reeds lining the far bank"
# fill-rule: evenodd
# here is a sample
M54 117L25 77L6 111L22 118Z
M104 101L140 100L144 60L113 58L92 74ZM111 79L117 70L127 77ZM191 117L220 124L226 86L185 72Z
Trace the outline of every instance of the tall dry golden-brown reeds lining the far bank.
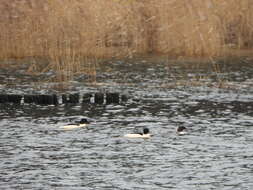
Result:
M0 12L0 59L43 57L59 80L98 58L253 46L252 0L0 0Z

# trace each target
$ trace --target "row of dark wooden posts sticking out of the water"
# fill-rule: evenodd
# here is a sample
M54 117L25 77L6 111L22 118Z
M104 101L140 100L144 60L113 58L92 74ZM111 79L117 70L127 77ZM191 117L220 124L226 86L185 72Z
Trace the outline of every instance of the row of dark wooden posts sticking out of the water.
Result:
M78 103L95 103L95 104L119 104L127 101L126 95L119 93L87 93L80 95L62 94L62 95L14 95L0 94L0 103L14 104L39 104L39 105L58 105L58 104L78 104Z

